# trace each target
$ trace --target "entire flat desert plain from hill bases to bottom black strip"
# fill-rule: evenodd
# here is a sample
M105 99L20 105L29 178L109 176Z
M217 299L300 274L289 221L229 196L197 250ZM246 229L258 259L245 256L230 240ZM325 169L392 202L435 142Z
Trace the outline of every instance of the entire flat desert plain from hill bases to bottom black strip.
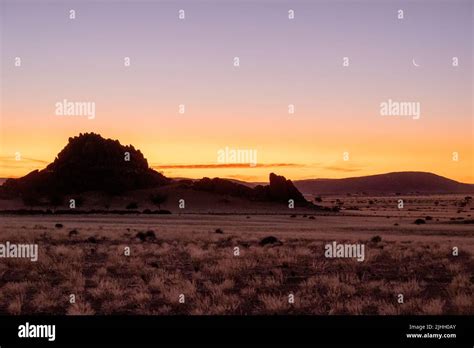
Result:
M318 201L340 210L246 211L229 197L214 213L173 209L173 200L163 215L4 212L0 240L36 243L39 255L0 260L0 312L474 313L470 196ZM332 242L363 244L364 261L325 257Z

